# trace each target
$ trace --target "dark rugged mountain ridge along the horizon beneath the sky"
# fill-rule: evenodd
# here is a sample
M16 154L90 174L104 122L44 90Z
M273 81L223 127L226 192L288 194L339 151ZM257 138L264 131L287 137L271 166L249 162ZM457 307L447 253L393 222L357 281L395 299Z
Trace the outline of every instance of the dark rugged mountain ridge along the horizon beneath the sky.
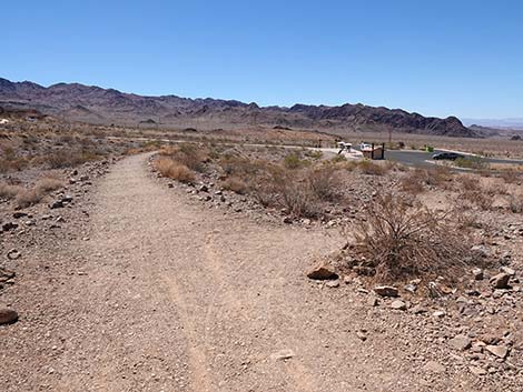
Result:
M295 104L265 107L220 99L177 96L142 97L79 83L48 88L0 78L0 105L30 108L67 120L137 125L154 121L164 128L214 129L245 125L315 129L345 134L353 131L407 132L450 137L481 137L455 117L427 118L399 109L364 104L339 107Z

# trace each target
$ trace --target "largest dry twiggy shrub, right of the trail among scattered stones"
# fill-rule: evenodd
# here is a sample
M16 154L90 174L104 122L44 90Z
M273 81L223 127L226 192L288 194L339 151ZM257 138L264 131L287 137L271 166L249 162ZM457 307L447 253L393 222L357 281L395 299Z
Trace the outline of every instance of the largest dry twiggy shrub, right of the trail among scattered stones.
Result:
M412 207L395 193L377 198L366 212L366 222L355 232L355 250L374 270L376 280L452 278L466 264L467 241L446 217Z

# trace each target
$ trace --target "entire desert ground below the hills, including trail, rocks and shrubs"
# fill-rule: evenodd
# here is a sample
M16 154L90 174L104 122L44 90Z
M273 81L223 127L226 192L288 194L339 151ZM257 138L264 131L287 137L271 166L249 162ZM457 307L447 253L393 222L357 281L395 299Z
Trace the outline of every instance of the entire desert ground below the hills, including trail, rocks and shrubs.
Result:
M3 125L0 390L522 391L521 168L318 139Z

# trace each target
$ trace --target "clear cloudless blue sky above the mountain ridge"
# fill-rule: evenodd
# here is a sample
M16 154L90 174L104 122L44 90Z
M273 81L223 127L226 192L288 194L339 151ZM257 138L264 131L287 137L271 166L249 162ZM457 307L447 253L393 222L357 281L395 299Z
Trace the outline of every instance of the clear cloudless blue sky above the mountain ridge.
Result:
M516 0L26 0L0 18L14 81L523 117Z

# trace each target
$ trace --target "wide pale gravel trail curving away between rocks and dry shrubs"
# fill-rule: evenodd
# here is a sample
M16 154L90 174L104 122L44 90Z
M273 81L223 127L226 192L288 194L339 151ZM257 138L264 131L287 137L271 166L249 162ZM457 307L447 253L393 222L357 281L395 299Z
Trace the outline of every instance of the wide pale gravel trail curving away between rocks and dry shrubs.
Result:
M420 384L399 323L393 341L357 294L304 278L339 239L206 210L154 180L146 158L112 168L89 239L65 250L86 260L55 293L52 333L67 338L52 374L30 378L63 391L466 390ZM384 334L364 343L358 328ZM282 350L295 355L272 356Z

